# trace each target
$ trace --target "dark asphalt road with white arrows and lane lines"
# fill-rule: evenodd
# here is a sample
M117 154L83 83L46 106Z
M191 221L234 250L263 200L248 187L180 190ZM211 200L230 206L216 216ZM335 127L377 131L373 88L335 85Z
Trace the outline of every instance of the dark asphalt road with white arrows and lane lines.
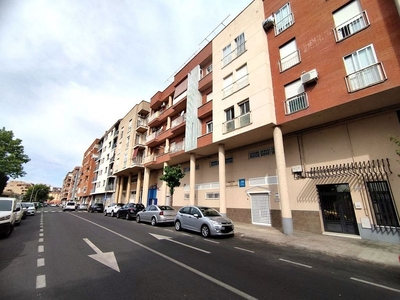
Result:
M400 271L47 207L0 239L0 299L400 299Z

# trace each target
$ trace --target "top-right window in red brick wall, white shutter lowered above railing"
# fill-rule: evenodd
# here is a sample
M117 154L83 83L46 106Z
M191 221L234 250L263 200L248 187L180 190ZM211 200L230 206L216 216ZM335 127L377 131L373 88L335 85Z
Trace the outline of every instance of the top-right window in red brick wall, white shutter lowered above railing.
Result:
M369 25L366 12L358 1L352 1L333 13L335 39L337 42L357 33Z

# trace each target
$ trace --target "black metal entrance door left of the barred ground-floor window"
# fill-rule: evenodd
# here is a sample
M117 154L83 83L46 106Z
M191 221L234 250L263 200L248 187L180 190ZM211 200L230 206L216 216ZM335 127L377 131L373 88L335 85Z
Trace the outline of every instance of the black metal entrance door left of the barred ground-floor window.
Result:
M348 184L317 185L325 231L359 234Z

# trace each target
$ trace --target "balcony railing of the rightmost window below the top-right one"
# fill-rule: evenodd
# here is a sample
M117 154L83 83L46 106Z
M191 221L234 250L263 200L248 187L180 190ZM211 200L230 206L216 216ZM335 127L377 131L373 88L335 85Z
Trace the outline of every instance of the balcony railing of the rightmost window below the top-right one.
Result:
M361 90L387 79L381 62L368 66L345 77L349 93Z

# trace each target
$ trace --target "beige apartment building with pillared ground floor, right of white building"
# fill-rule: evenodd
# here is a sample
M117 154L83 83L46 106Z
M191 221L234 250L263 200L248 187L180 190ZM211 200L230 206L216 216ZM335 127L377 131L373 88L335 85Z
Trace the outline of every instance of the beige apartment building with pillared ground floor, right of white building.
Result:
M142 202L143 161L146 153L149 112L150 103L141 101L121 119L119 124L115 162L112 168L113 175L117 178L115 202Z

